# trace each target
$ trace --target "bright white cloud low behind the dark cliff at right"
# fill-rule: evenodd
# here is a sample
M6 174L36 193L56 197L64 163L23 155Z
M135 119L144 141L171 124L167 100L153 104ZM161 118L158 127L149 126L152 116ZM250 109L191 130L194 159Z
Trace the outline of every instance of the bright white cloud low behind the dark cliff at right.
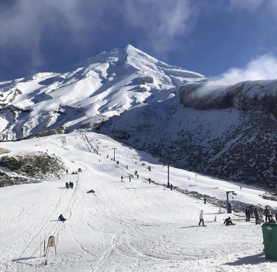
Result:
M230 84L246 80L276 79L277 58L268 54L258 56L247 63L245 68L230 68L214 78Z

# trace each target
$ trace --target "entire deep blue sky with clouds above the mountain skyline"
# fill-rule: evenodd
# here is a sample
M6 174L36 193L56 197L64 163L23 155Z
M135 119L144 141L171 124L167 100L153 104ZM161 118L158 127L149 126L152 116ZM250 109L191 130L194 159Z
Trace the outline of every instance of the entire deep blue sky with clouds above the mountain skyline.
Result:
M0 0L0 81L128 43L227 83L277 78L277 0Z

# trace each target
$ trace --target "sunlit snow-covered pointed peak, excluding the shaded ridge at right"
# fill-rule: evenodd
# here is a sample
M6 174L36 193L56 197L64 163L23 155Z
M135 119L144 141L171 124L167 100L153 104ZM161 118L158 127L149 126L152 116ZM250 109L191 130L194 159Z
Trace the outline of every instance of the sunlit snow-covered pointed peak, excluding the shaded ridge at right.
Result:
M93 128L145 101L173 97L179 86L207 80L127 45L86 59L63 72L45 72L0 83L3 140L63 126Z

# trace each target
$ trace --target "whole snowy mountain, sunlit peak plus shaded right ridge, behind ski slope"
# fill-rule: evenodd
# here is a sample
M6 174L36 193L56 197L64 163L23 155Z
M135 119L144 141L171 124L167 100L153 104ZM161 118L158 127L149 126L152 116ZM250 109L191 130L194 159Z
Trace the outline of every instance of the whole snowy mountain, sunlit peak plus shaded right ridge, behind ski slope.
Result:
M224 179L277 178L277 81L226 85L127 45L0 83L1 140L98 131Z

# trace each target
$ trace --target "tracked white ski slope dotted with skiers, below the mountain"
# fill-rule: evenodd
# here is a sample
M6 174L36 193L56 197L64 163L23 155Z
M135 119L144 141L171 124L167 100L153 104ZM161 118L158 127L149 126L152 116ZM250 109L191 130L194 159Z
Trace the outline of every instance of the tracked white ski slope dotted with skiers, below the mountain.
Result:
M96 146L99 154L94 151ZM0 147L11 150L9 156L48 149L64 160L69 172L48 182L0 188L0 271L277 269L276 262L265 259L261 226L255 225L255 220L226 227L222 220L226 211L219 213L219 207L210 204L209 198L204 204L163 186L168 169L146 152L130 149L105 135L78 132L2 142ZM116 147L115 161L112 147ZM152 171L148 171L149 165ZM82 172L70 174L78 168ZM240 195L239 183L173 167L169 171L173 186L219 200L226 199L226 190L234 190L234 203L277 208L276 202L259 196L265 193L262 189L242 185ZM148 178L154 182L149 184ZM70 181L74 187L66 189L65 183ZM87 193L91 189L95 193ZM201 209L207 227L198 227ZM61 213L67 221L57 221ZM41 257L44 237L48 239L49 235L55 237L57 255L50 248L48 257Z

